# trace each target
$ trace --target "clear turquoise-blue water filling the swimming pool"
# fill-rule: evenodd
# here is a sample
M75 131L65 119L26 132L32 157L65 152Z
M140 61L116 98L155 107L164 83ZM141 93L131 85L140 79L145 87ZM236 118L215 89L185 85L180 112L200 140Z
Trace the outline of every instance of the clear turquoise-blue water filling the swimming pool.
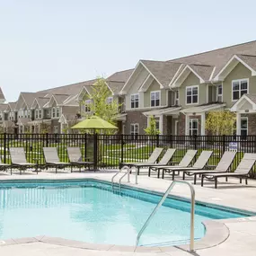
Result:
M0 239L41 234L84 241L135 245L137 233L160 196L122 189L99 181L24 182L0 184ZM195 237L205 234L206 219L250 216L204 205L196 206ZM166 199L142 235L140 244L187 243L190 203Z

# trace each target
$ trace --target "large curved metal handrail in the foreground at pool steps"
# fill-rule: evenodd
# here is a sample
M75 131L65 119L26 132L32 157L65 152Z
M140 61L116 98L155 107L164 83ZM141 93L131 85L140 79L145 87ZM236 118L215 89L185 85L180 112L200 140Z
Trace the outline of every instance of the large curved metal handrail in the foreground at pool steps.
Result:
M191 210L190 210L190 252L195 252L194 250L194 220L195 220L195 190L192 184L190 184L187 181L172 181L172 184L169 186L169 188L165 191L163 198L160 200L160 202L157 204L156 207L154 207L153 212L151 215L147 218L146 223L143 225L139 233L137 234L137 240L136 240L136 246L138 245L140 236L143 234L145 231L147 225L151 221L152 217L156 213L159 207L163 205L163 201L167 198L169 195L170 191L174 187L175 184L177 183L184 183L187 184L190 187L190 192L191 192Z

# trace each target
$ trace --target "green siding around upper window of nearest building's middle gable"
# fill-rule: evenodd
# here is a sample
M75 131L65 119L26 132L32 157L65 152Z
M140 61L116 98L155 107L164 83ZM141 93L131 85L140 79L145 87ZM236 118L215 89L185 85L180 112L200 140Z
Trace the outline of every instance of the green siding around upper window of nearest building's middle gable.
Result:
M198 104L186 104L186 87L191 85L199 85L199 103ZM180 105L182 108L190 108L190 106L197 106L207 103L207 84L200 84L199 78L190 73L180 87Z

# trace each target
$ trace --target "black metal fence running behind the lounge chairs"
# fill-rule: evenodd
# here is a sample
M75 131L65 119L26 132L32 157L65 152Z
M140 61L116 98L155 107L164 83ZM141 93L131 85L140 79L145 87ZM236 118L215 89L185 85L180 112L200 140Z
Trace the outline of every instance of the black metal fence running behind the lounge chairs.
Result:
M84 158L97 167L118 168L121 162L145 162L156 146L176 148L173 162L179 162L188 149L212 150L209 165L216 165L225 151L237 151L232 170L244 153L256 153L256 136L146 136L89 134L1 134L2 161L11 163L9 148L23 147L27 160L44 164L43 146L57 147L60 161L68 163L67 146L79 146ZM198 155L199 155L198 153ZM256 178L255 170L251 176Z

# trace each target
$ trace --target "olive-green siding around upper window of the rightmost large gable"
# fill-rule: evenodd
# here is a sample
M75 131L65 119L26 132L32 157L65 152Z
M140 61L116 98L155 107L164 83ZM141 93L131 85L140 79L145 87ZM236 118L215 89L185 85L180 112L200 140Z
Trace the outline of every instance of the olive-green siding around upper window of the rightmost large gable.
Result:
M243 78L249 78L249 93L256 93L256 76L252 76L252 72L243 66L243 64L239 63L225 77L225 81L223 82L223 102L226 103L227 108L231 108L234 104L232 102L232 81Z

